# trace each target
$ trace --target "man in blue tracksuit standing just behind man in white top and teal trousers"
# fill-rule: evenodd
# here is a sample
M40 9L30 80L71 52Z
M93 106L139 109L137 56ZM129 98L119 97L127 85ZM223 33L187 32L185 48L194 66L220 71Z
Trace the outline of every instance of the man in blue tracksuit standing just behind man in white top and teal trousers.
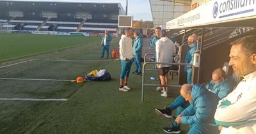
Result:
M141 74L141 51L142 51L142 37L138 31L133 33L133 36L135 38L134 43L133 43L133 57L136 65L136 70L133 71L132 73L135 73L136 75Z

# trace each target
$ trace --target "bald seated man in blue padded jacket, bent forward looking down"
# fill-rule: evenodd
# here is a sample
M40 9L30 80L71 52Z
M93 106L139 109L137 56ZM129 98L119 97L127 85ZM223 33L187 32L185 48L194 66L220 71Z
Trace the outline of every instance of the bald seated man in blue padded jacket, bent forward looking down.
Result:
M204 85L184 84L180 89L181 96L191 103L185 110L182 111L175 122L189 124L190 130L188 134L195 133L218 133L218 128L214 125L213 116L218 103L218 98L215 94L207 91ZM173 133L173 126L164 128L166 133ZM179 131L176 131L180 133Z

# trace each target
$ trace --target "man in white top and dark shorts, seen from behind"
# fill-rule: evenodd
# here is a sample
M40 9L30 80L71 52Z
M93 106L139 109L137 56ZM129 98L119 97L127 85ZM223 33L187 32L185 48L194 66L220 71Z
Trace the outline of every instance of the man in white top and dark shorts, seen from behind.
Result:
M160 31L161 38L156 42L156 62L157 63L172 63L174 44L168 37L166 37L166 31ZM168 72L170 70L170 64L157 64L157 69L160 77L161 85L163 86L163 93L161 96L167 97L167 85L168 85Z

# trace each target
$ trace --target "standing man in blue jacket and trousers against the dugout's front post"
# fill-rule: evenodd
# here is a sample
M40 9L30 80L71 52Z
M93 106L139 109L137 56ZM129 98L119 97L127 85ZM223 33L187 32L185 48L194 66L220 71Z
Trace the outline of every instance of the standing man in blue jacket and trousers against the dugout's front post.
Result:
M196 50L195 36L191 35L188 37L188 50L186 52L184 63L193 64L195 50ZM185 66L184 70L187 73L187 83L192 84L192 66L191 65Z

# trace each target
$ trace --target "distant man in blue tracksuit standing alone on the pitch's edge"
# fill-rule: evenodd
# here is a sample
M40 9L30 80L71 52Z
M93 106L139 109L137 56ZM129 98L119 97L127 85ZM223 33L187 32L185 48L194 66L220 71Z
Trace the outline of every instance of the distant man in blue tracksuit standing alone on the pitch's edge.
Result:
M104 57L105 50L106 50L107 58L108 58L111 40L112 40L112 36L108 33L108 31L105 31L104 35L102 35L102 41L101 41L101 45L102 45L102 56L101 57Z

